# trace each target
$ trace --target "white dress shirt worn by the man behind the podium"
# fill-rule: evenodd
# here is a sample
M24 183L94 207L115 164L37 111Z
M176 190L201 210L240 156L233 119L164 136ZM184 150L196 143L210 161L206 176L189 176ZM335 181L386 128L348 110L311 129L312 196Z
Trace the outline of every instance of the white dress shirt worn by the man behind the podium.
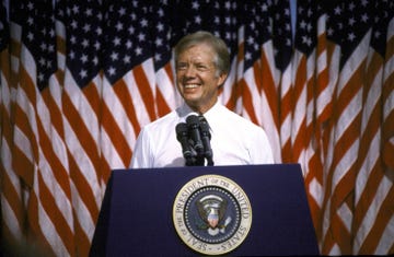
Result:
M189 115L186 104L144 126L138 136L131 167L185 166L175 127ZM211 133L215 165L271 164L273 151L262 127L219 104L204 114Z

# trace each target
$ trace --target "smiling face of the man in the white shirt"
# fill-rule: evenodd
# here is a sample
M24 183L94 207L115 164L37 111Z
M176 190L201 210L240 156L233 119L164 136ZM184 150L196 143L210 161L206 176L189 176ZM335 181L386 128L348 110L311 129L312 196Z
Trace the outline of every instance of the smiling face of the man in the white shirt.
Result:
M215 52L206 44L192 46L181 52L176 63L176 85L186 104L199 113L212 107L218 87L225 74L217 74Z

